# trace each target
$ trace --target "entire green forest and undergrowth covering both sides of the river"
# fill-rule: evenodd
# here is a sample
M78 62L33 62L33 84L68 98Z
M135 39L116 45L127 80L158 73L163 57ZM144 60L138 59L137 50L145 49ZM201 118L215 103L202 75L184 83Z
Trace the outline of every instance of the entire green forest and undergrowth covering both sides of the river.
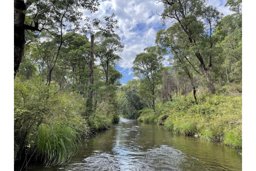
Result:
M15 164L61 164L119 115L242 149L242 0L227 1L227 16L204 0L157 3L172 25L122 85L115 15L80 11L97 0L14 0Z

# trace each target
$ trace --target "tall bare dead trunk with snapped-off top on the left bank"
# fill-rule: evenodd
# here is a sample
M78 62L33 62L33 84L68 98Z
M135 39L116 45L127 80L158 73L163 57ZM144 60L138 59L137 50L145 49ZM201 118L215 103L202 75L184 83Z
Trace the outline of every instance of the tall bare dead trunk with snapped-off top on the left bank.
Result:
M86 108L88 109L88 115L92 113L92 97L93 97L93 75L94 75L94 35L91 34L91 46L90 46L90 62L89 62L89 79L88 79L88 98L86 101Z

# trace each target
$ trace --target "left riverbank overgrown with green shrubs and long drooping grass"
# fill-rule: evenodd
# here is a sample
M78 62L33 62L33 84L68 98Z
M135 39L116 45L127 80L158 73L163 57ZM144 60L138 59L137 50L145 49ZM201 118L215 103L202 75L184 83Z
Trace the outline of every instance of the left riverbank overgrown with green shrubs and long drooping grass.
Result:
M38 78L14 84L14 163L52 166L78 151L81 140L119 122L111 103L97 105L89 115L86 99L76 92L56 93ZM54 95L53 95L54 94Z

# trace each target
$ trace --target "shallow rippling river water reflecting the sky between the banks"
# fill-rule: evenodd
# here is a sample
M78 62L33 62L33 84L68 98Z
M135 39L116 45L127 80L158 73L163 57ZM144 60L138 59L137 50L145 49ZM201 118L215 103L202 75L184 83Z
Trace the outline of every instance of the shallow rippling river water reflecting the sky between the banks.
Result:
M84 142L69 162L27 170L242 170L242 156L220 143L121 117Z

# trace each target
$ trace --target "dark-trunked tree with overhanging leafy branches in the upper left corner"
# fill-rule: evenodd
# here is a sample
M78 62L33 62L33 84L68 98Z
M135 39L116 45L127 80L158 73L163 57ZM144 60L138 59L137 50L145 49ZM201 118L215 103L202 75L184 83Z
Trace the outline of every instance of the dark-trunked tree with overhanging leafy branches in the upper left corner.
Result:
M114 15L105 17L104 23L86 17L85 24L80 25L83 16L81 11L87 9L95 12L99 5L98 0L14 0L14 78L24 53L25 30L35 32L32 34L35 37L42 31L55 33L60 38L56 59L64 42L64 31L74 34L96 29L113 32L117 27Z

